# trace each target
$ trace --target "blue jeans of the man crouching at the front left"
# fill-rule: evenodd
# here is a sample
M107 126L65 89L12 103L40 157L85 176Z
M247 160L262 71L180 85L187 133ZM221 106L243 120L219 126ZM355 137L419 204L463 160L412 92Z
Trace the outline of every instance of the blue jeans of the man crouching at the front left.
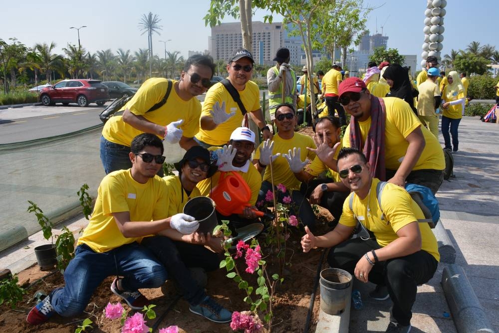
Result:
M64 271L65 286L50 293L50 303L62 317L78 316L85 310L95 289L111 275L123 276L122 287L130 292L161 287L168 277L163 265L138 243L103 253L81 244Z

